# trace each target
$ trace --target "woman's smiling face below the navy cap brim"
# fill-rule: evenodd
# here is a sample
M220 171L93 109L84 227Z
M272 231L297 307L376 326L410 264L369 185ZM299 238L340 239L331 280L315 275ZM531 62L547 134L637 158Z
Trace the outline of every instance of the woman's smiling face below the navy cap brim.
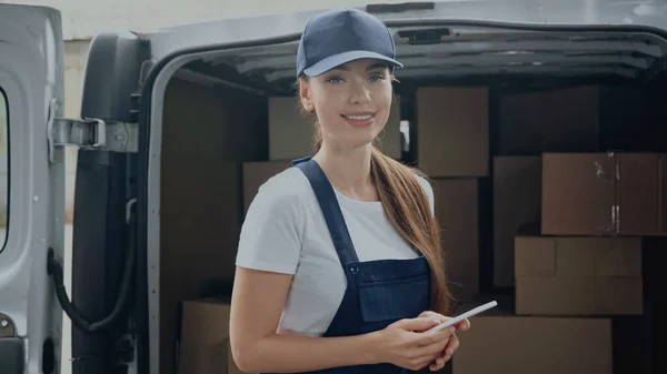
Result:
M391 108L391 77L386 63L357 60L301 81L299 94L315 111L322 142L344 149L372 143Z

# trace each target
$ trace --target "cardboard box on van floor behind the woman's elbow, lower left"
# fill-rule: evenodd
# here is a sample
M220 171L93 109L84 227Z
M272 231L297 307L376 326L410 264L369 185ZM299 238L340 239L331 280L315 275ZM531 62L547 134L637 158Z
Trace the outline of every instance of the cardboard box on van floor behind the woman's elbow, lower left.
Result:
M229 300L182 303L178 374L242 373L229 346Z

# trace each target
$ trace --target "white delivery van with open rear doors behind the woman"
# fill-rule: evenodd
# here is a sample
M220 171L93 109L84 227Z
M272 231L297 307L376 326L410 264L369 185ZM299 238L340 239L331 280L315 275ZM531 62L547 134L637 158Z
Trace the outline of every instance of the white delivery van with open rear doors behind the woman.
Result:
M397 91L407 121L416 87L480 82L516 92L628 84L653 98L648 112L665 115L664 1L461 0L365 9L394 32L406 65ZM242 215L239 164L267 160L268 98L293 97L298 40L316 13L101 33L90 47L81 115L67 119L59 11L0 4L9 181L0 373L59 372L63 307L72 320L76 374L125 366L173 373L178 303L229 290L223 281L233 276L240 225L230 216ZM654 131L643 130L644 122L617 129L607 144ZM656 134L666 135L660 129ZM415 134L410 128L405 139ZM666 138L646 139L658 148ZM408 163L418 161L414 143L401 155ZM62 286L68 145L79 148L68 290L76 307ZM489 146L495 154L494 141Z

